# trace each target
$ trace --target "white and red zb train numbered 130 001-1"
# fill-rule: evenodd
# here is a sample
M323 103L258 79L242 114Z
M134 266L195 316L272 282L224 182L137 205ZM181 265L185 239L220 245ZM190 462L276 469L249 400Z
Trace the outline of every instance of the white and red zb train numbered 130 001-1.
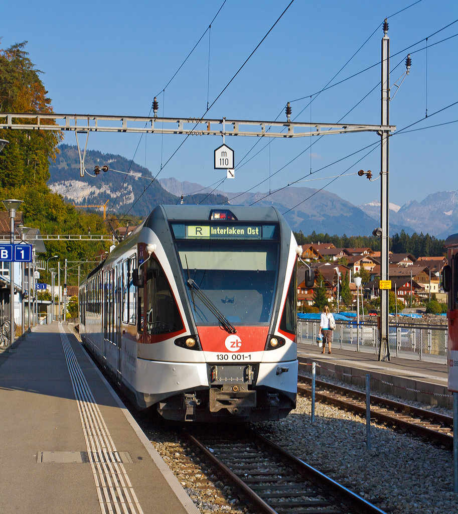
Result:
M158 206L82 281L83 344L166 419L285 417L300 251L274 207Z

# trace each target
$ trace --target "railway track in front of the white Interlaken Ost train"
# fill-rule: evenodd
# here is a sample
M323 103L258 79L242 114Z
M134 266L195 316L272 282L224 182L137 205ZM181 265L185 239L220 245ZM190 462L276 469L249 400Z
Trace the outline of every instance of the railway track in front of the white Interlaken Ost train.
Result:
M383 514L383 511L249 428L234 435L183 431L189 442L266 514Z

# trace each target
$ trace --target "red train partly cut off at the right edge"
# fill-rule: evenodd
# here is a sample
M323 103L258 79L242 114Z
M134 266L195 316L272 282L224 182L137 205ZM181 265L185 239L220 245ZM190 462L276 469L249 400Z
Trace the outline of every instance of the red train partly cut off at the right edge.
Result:
M447 292L447 363L448 389L458 392L458 234L450 235L444 247L447 264L442 271L442 286Z

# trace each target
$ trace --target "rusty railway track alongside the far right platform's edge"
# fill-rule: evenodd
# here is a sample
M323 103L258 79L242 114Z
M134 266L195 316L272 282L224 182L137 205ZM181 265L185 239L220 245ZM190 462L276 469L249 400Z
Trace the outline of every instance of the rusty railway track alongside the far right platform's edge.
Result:
M298 375L299 394L312 396L312 379ZM366 394L322 380L315 380L315 399L356 414L366 415ZM453 448L453 417L398 401L370 395L371 419Z

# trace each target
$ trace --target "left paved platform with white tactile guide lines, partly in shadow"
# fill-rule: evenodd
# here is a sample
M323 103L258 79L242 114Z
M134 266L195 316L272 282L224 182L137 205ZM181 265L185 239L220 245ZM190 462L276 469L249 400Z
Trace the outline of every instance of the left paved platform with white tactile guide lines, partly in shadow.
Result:
M68 326L0 353L0 512L199 514Z

